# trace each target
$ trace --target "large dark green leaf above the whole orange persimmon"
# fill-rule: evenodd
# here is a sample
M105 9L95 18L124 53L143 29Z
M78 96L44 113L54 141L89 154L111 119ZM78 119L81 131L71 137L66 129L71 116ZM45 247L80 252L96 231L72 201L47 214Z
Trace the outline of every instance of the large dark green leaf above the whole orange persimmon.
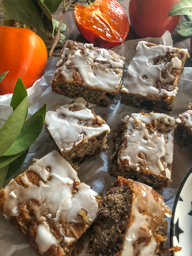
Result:
M5 19L18 20L36 29L46 47L52 45L53 25L44 13L37 0L1 0L2 11ZM64 42L60 40L57 47L62 47Z

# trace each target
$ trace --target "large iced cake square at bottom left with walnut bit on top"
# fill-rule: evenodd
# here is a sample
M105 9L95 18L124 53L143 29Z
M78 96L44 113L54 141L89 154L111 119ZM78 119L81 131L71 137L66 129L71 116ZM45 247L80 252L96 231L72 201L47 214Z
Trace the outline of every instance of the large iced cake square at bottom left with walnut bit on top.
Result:
M0 210L39 255L64 256L95 219L97 197L52 151L0 190Z

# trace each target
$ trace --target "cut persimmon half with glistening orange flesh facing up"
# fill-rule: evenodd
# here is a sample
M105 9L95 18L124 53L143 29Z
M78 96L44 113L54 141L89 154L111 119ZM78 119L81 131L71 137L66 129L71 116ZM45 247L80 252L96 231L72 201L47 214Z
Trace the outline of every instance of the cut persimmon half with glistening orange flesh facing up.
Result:
M110 49L126 39L129 21L116 0L97 0L91 7L77 4L74 11L77 29L95 46Z

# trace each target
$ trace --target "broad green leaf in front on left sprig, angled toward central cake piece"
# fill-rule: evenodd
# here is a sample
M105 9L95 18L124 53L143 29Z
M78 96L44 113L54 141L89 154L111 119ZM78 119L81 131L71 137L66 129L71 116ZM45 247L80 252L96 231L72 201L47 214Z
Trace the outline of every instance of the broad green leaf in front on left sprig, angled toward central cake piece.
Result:
M16 155L26 149L38 138L44 125L44 117L36 116L29 122L25 123L20 131L19 136L12 146L3 154L3 156Z

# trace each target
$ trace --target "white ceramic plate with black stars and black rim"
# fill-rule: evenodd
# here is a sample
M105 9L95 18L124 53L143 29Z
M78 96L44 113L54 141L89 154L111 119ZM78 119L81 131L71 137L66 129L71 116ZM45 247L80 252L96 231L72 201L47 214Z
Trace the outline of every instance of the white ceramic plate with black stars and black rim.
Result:
M180 246L174 256L192 255L192 168L182 181L172 209L170 245Z

